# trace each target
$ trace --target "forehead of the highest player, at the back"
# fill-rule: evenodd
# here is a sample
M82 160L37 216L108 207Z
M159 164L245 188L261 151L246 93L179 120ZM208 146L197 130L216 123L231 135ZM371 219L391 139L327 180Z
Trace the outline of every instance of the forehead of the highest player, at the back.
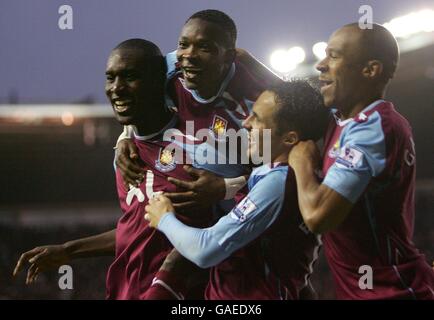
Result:
M224 31L217 24L200 18L190 19L182 28L180 39L222 43Z

